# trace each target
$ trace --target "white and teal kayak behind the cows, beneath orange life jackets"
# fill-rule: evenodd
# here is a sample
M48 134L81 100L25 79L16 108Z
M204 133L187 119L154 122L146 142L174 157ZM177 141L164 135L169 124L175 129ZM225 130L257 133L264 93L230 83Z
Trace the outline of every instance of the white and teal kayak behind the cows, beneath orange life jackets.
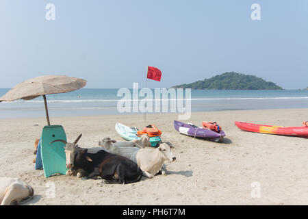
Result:
M125 140L140 140L140 137L137 134L138 129L136 127L128 127L121 123L116 123L116 132ZM151 146L158 146L157 144L161 142L159 136L157 137L150 137Z

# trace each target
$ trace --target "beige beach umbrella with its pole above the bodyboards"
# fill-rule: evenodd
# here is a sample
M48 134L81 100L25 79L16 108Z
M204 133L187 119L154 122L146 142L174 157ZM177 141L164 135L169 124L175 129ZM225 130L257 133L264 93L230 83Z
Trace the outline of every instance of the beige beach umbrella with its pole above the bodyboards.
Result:
M33 79L18 83L14 88L0 97L0 102L15 101L16 99L31 100L38 96L43 96L47 123L50 125L46 94L60 94L78 90L86 86L86 83L87 81L84 79L65 75L34 77Z

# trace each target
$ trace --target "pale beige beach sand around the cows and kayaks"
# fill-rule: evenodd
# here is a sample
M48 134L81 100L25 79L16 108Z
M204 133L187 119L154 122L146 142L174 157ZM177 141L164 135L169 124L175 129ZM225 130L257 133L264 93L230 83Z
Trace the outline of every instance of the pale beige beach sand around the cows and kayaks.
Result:
M155 123L162 139L172 143L176 162L166 164L168 175L127 185L104 184L56 175L45 178L34 170L34 139L45 118L0 120L0 177L20 177L34 187L25 205L307 205L308 140L240 131L234 121L301 126L308 110L248 110L196 112L188 122L217 121L227 136L216 143L184 136L173 127L177 114L144 116L51 117L63 125L68 141L79 133L79 146L98 146L103 137L122 140L116 122L144 127ZM54 188L54 195L51 189ZM254 188L259 185L258 188ZM258 192L259 193L256 193ZM253 194L253 196L252 196ZM259 194L255 195L255 194Z

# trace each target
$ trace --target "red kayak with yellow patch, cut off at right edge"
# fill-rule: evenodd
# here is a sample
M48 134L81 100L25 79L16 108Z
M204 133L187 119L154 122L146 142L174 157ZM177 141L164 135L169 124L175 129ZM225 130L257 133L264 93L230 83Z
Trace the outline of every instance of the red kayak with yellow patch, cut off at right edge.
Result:
M244 131L308 138L308 126L284 127L284 126L274 126L274 125L242 123L242 122L235 122L235 125Z

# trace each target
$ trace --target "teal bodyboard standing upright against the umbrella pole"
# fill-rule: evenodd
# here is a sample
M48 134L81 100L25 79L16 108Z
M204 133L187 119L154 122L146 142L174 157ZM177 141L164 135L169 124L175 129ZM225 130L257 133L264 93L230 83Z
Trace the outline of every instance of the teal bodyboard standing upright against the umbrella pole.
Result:
M66 141L66 134L62 125L45 126L42 130L40 154L45 177L50 177L55 173L66 174L66 157L63 142L54 142L61 139Z

